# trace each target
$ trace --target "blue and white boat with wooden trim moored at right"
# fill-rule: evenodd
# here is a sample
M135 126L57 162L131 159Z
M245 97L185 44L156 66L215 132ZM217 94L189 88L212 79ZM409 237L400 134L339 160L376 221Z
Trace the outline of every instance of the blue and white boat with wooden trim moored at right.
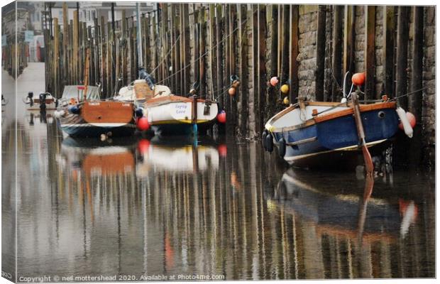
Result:
M360 104L366 146L378 146L395 135L400 123L396 103ZM305 102L280 111L265 124L263 144L273 144L287 163L311 168L358 156L359 145L351 102Z

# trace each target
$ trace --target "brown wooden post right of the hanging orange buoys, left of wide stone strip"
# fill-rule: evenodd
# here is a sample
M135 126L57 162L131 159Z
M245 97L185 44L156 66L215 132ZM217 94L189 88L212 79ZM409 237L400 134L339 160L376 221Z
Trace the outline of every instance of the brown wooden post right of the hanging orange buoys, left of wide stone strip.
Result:
M299 6L292 5L290 7L290 40L289 40L290 41L289 99L291 103L295 102L295 99L298 97L298 66L299 66L297 62L297 57L299 54L298 18L299 18Z

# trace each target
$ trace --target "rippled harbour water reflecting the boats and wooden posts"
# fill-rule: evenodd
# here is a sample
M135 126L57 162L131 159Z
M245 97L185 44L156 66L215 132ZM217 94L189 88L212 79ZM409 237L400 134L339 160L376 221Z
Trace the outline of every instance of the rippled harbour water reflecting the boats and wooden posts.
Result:
M258 143L101 142L33 121L18 129L18 275L434 277L429 177L390 185L288 169Z

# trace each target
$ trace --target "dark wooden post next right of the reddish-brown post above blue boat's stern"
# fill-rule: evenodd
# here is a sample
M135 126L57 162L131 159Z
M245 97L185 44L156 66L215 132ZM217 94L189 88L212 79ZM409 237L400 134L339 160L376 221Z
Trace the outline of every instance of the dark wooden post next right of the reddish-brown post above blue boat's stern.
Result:
M383 6L383 83L388 97L395 96L395 9L395 6Z

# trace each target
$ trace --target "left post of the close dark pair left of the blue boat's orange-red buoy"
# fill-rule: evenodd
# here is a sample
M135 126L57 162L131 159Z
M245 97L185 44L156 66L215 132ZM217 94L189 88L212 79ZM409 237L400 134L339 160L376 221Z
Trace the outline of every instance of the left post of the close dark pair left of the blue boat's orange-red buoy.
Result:
M332 82L331 102L336 102L341 99L340 84L342 82L342 17L343 6L334 6L334 21L333 21L333 46L332 46L332 69L333 76L336 82Z

